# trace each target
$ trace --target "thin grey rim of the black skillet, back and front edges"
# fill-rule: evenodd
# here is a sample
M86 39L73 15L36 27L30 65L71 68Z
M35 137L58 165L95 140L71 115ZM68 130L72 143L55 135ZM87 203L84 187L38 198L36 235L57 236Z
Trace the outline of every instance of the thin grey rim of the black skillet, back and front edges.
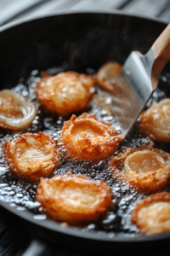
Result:
M44 18L48 18L48 17L53 17L53 16L58 16L58 15L79 15L79 14L99 14L99 15L122 15L122 16L130 16L133 18L137 18L140 20L152 20L152 21L156 21L159 22L161 24L167 25L168 23L160 20L158 18L150 18L148 16L144 16L144 15L131 15L128 14L127 12L124 12L122 10L109 10L109 9L104 9L103 11L101 10L71 10L71 11L59 11L59 12L51 12L48 15L37 15L36 17L32 17L32 18L21 18L20 20L14 20L9 22L6 25L0 26L0 32L6 31L10 28L12 28L13 26L20 26L21 24L33 21L33 20L41 20ZM67 236L75 236L77 238L81 238L81 239L86 239L86 240L93 240L93 241L105 241L105 242L117 242L117 243L122 243L122 242L127 242L127 243L138 243L138 242L148 242L148 241L163 241L163 240L167 240L168 238L170 238L170 232L167 233L162 233L156 236L137 236L137 237L126 237L126 236L107 236L107 235L101 235L99 233L92 233L89 231L85 231L83 232L82 230L79 230L75 227L71 227L71 226L67 226L65 228L63 228L59 223L54 222L53 220L50 219L42 219L42 220L37 220L35 218L33 218L34 214L32 212L22 212L17 210L17 208L15 207L10 207L10 205L8 204L8 202L4 202L0 200L0 207L3 207L5 210L7 210L8 212L14 214L15 216L22 218L24 220L26 220L26 222L30 222L31 224L35 224L40 226L43 229L46 230L51 230L57 233L60 233L62 235L67 235ZM55 223L55 224L54 224Z

